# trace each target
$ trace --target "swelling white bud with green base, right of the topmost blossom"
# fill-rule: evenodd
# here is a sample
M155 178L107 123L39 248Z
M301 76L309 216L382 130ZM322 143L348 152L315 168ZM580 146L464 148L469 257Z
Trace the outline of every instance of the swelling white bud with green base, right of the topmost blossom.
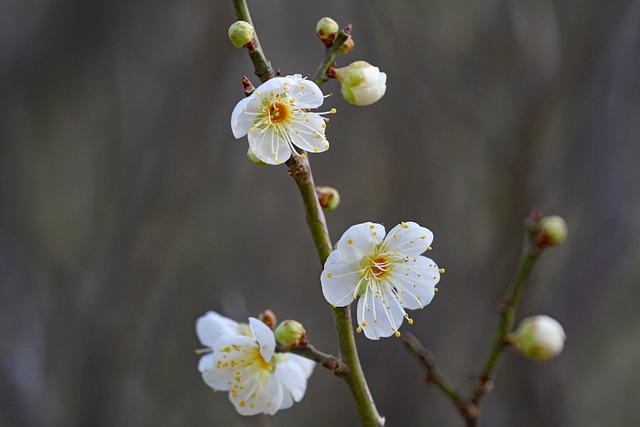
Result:
M387 75L365 61L356 61L348 67L338 68L335 75L342 83L342 96L350 104L373 104L387 90Z

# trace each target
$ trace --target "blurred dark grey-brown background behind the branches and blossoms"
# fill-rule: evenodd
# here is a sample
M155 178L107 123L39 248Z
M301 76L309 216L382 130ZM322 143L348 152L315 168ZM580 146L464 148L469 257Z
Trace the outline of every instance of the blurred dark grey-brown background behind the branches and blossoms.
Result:
M564 326L564 353L503 360L483 426L640 420L640 2L359 0L249 3L283 74L323 56L314 26L352 23L388 74L352 107L335 81L337 241L363 221L435 233L447 273L410 331L464 390L486 354L521 223L564 216L519 318ZM229 117L254 83L227 39L231 0L0 3L0 425L244 426L197 372L196 318L273 309L337 352L303 207L284 167L255 167ZM406 327L406 326L405 326ZM358 336L387 425L460 426L394 338ZM358 424L318 368L272 426Z

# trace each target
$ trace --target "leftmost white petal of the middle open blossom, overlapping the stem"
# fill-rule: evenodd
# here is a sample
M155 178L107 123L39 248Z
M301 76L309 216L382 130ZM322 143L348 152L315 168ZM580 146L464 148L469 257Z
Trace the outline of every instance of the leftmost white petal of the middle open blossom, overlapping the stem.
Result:
M327 258L320 276L322 294L329 304L336 307L349 305L361 278L358 262L345 262L341 250L336 249Z

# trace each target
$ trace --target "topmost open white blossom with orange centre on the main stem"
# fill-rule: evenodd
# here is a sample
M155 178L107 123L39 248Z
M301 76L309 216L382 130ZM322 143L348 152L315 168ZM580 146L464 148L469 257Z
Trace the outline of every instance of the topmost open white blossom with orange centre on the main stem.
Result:
M248 134L249 148L265 163L277 165L295 153L295 147L311 153L329 148L322 114L311 108L322 105L322 91L299 74L275 77L238 102L231 114L233 136Z

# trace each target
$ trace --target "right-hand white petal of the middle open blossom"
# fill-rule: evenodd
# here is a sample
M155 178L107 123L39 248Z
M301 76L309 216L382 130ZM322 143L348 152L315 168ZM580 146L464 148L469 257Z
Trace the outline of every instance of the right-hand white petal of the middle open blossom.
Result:
M389 282L395 286L404 308L415 310L428 305L440 281L440 271L433 260L419 256L410 259L390 273Z

